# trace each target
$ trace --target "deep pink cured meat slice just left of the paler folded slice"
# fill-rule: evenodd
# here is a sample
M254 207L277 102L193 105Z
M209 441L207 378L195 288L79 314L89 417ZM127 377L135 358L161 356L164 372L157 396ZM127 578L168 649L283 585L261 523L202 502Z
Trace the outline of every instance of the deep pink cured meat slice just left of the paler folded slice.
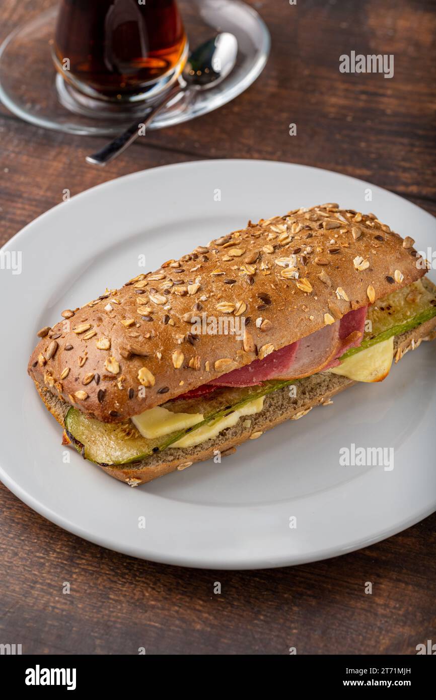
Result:
M267 379L275 379L281 374L286 374L292 366L293 359L297 353L299 342L285 345L280 350L276 350L263 360L254 360L239 370L232 370L227 374L222 374L217 379L212 379L209 385L214 386L255 386Z

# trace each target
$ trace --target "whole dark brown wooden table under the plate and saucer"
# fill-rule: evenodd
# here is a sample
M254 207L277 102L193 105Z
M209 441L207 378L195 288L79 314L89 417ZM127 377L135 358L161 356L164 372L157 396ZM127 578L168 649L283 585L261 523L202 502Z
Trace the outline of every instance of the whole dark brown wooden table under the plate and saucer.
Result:
M1 3L1 38L51 4ZM60 202L64 188L75 195L130 172L203 158L332 169L436 214L433 1L252 4L272 34L257 83L219 111L153 133L106 169L84 160L101 139L44 131L0 109L0 244ZM351 50L393 54L394 78L339 73L339 55ZM289 136L290 123L297 137ZM414 654L416 644L436 639L435 514L330 561L227 573L101 549L45 521L3 486L0 502L0 643L22 643L24 653L136 654L145 646L150 654L287 654L295 646L299 654ZM221 595L213 594L216 581Z

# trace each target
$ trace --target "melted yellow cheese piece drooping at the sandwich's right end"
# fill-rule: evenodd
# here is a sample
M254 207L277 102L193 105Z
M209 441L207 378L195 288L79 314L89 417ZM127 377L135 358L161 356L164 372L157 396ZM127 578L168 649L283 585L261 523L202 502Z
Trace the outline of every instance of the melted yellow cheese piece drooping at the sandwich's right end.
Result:
M381 381L388 376L393 360L393 337L360 350L329 372L353 381Z

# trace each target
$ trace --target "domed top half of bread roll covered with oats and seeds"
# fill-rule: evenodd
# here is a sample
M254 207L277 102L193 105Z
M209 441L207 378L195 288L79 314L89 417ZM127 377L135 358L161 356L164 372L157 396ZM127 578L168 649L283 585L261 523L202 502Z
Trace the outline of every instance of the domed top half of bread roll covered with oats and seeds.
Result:
M87 416L124 421L416 281L413 243L337 204L249 222L64 311L29 374ZM244 317L244 340L193 334L202 314Z

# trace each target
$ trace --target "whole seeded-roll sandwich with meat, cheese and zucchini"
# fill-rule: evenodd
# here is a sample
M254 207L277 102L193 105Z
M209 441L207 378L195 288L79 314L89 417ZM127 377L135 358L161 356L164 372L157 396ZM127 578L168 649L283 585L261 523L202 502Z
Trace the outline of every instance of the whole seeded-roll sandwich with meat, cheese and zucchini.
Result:
M427 267L338 204L249 221L62 311L28 372L64 444L137 486L384 379L436 335Z

